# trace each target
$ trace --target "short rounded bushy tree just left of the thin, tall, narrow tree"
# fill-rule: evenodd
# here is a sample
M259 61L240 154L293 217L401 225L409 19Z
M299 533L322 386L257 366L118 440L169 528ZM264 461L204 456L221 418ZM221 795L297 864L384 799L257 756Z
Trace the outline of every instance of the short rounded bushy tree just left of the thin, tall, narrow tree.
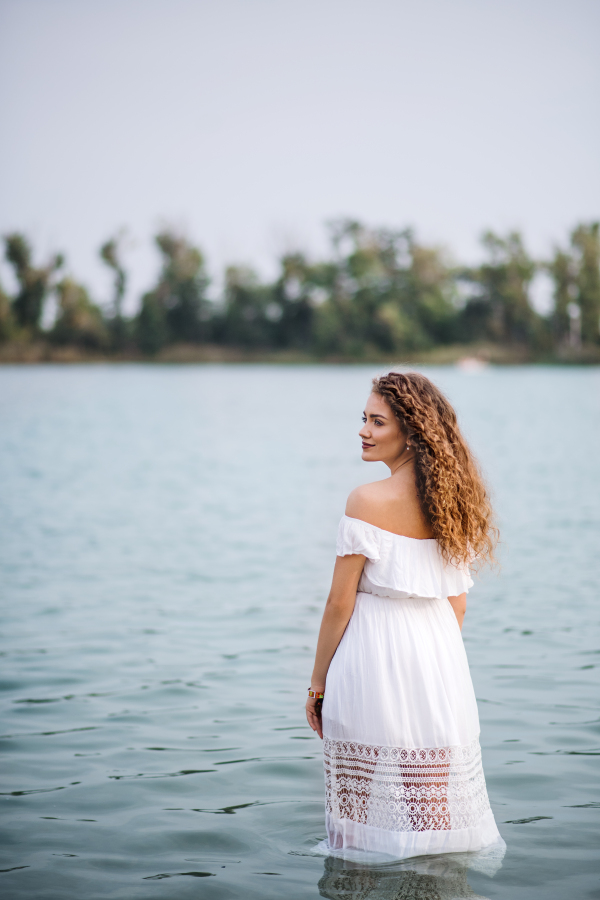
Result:
M107 345L108 334L102 312L90 300L83 285L63 278L56 286L58 315L51 338L58 344L77 344L98 350Z

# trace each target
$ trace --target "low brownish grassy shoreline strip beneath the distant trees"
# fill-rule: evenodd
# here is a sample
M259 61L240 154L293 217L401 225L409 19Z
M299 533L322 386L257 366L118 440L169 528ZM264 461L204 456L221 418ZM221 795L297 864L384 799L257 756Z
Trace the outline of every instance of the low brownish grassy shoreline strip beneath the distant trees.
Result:
M486 365L510 366L600 365L600 347L561 354L533 353L525 346L502 344L449 344L429 350L394 354L406 364L457 365L481 368ZM342 354L316 355L299 350L260 350L226 347L216 344L172 344L153 356L131 349L121 353L102 353L77 345L57 345L49 341L0 344L0 365L81 364L81 363L152 363L156 365L189 365L199 363L272 363L289 365L357 365L390 362L390 353L365 353L360 356Z

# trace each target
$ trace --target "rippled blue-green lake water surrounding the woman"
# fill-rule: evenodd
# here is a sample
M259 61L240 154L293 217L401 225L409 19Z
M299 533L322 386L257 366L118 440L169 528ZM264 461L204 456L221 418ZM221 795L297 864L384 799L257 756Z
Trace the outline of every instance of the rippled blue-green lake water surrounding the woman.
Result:
M304 700L372 366L0 369L6 898L600 897L600 372L423 369L492 485L464 639L507 853L324 860Z

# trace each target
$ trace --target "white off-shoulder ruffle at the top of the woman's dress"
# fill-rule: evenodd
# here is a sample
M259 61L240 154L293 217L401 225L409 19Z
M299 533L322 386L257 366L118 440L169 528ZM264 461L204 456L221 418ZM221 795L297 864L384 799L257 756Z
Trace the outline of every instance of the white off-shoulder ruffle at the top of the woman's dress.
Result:
M338 556L366 556L358 590L367 594L445 600L473 586L468 567L444 562L435 539L394 534L362 519L342 517L336 549Z

